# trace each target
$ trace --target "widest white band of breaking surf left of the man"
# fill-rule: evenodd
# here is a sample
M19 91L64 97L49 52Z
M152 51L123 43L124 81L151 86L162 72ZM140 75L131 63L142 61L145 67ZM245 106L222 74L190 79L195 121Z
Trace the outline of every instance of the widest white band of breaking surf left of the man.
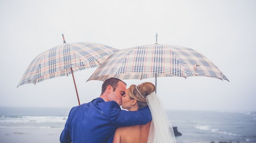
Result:
M1 116L1 124L65 123L66 116Z

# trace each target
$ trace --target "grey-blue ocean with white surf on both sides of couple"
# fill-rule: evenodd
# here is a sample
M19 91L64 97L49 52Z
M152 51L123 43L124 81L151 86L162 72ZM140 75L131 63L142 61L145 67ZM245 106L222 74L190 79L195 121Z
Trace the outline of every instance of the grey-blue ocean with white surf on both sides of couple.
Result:
M68 108L0 107L0 142L59 142ZM166 110L177 143L256 143L255 111Z

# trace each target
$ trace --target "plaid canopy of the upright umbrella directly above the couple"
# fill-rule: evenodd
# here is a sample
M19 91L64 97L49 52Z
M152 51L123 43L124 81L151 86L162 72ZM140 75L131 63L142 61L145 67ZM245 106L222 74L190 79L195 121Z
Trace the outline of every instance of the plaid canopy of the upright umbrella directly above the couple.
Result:
M87 80L146 79L160 76L207 76L228 80L203 54L181 47L162 44L136 46L112 54Z

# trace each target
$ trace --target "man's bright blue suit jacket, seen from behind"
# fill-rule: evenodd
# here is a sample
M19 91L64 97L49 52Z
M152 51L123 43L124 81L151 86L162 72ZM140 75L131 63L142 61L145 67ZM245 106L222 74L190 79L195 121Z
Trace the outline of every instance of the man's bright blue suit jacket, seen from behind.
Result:
M70 110L60 142L106 143L117 127L145 125L151 120L148 106L138 111L125 111L115 101L105 102L98 97Z

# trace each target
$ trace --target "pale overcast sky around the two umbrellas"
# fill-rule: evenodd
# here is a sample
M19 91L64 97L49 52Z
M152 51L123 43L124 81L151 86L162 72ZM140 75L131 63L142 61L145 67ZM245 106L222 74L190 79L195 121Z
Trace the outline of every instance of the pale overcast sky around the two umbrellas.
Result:
M158 43L192 48L229 79L160 77L166 109L256 111L256 1L8 1L0 5L0 106L78 105L72 76L16 88L30 62L67 42L95 42L117 49ZM81 103L99 97L101 81L75 73ZM145 80L125 80L128 86Z

